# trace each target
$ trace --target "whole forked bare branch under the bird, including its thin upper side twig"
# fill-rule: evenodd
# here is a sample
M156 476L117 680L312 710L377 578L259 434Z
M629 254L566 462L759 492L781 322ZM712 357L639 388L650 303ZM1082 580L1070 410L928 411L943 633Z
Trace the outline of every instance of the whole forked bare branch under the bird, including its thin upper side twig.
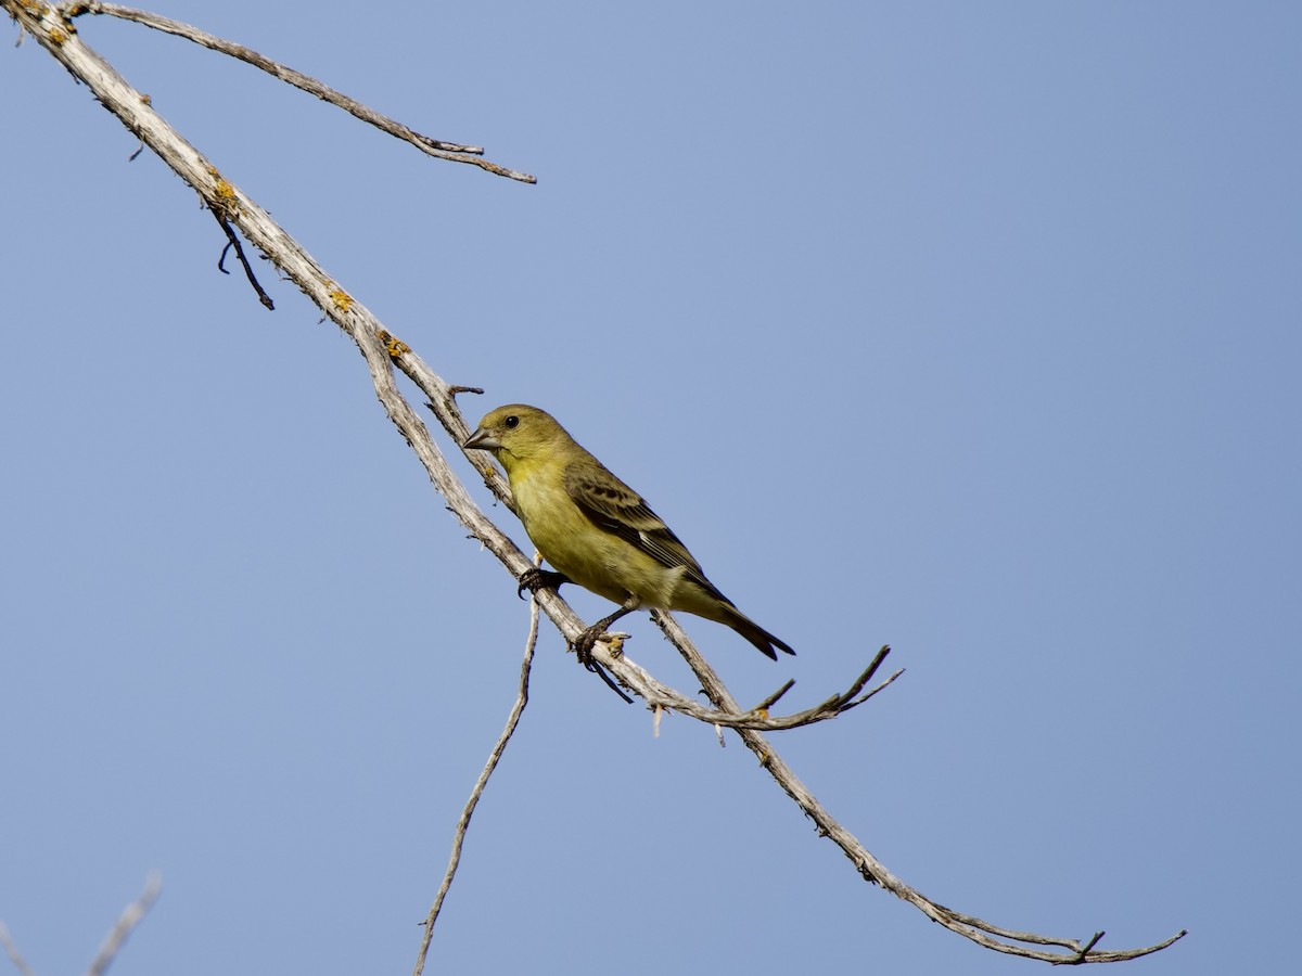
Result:
M259 249L286 278L297 285L322 308L327 318L335 321L357 344L375 385L376 397L393 426L397 427L398 432L415 452L435 488L447 500L448 509L461 521L469 534L482 541L484 548L491 550L506 570L518 579L521 573L529 567L529 560L483 514L470 497L470 493L452 472L430 431L398 390L393 376L393 366L396 364L406 373L428 398L435 416L450 436L453 445L458 449L470 435L470 429L461 416L460 410L457 410L454 401L456 393L464 392L464 388L447 384L406 344L395 344L391 341L392 336L383 329L380 321L361 302L352 298L349 301L340 301L339 295L342 294L346 297L346 293L335 284L335 278L276 224L262 207L238 190L238 187L223 180L207 160L155 112L148 99L128 85L112 65L87 47L77 34L72 18L86 13L105 14L185 36L194 43L254 64L273 77L296 85L318 98L352 112L362 121L388 131L397 138L402 138L431 156L456 163L469 163L496 176L522 182L533 182L534 178L480 159L478 147L444 143L421 135L256 52L249 51L240 44L214 38L176 21L105 3L73 3L51 7L35 0L0 0L0 9L8 12L23 31L30 33L74 78L85 83L94 92L95 98L122 121L129 131L134 133L177 176L193 186L206 203L210 206L217 203L216 194L220 186L224 206L214 207L221 215L219 220L225 217L236 226L254 247ZM471 453L479 454L479 452ZM510 492L501 474L484 458L469 458L469 463L480 474L493 495L509 508ZM534 599L538 606L547 613L568 639L573 640L585 629L583 622L555 592L540 591ZM1135 959L1165 949L1186 934L1181 930L1155 945L1107 951L1096 947L1098 942L1103 938L1101 932L1098 932L1083 943L1077 940L1017 932L974 916L962 915L939 902L926 898L917 889L910 888L892 874L884 864L868 852L858 838L832 817L781 756L772 750L763 734L766 731L779 731L825 721L863 704L863 701L876 695L878 691L881 691L898 677L897 671L871 691L863 692L863 688L872 681L880 664L884 661L887 648L883 648L878 653L868 668L865 669L845 692L833 695L805 712L775 718L768 712L789 691L789 683L775 691L756 707L742 709L687 635L678 627L673 617L667 613L658 613L654 617L665 636L678 649L700 681L700 686L711 701L711 708L702 707L691 698L660 683L625 655L611 653L611 649L604 644L599 644L596 648L596 657L602 665L608 668L625 687L641 695L658 717L665 711L672 709L713 725L716 729L730 727L745 746L755 753L763 769L773 778L777 786L814 821L819 834L827 837L840 847L854 865L854 869L865 880L881 885L881 888L909 902L934 921L986 949L1029 959L1039 959L1052 964L1111 963ZM431 927L432 916L426 927L427 940ZM428 942L426 942L427 945Z

